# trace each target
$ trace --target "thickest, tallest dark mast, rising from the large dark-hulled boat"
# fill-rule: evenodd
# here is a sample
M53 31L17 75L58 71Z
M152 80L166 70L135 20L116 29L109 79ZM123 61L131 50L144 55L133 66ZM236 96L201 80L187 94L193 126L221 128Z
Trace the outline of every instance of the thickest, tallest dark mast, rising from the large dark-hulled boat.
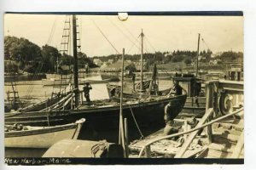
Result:
M79 73L78 73L78 51L77 51L77 19L73 14L73 84L75 94L75 107L79 105Z

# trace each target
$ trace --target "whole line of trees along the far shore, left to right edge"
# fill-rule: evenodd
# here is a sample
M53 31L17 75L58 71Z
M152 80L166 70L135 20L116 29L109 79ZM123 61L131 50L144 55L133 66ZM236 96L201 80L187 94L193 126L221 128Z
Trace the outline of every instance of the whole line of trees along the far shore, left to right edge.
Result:
M197 56L196 51L175 50L173 52L155 52L143 54L143 59L146 59L148 65L166 64L183 62L190 65ZM211 50L203 50L200 52L201 62L209 63L212 58ZM104 56L95 56L88 58L86 54L79 53L79 68L84 65L89 65L90 68L96 67L93 59L101 59L103 62L108 62L108 59L116 61L121 58L121 55L110 54ZM125 60L139 61L141 54L125 54ZM60 65L73 65L73 56L61 54L57 48L45 44L42 48L37 44L30 42L26 38L4 37L4 59L11 62L4 63L4 71L26 71L30 73L54 73L56 71L57 59ZM214 59L220 59L221 62L243 62L243 53L227 51L217 56Z

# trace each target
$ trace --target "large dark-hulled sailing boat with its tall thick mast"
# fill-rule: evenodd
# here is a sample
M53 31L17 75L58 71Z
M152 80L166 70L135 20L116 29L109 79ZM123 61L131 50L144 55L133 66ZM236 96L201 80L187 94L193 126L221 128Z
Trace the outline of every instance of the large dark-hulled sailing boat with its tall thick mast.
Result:
M76 16L73 15L73 47L77 47L76 34ZM80 118L85 118L87 124L82 127L81 139L94 139L104 135L103 139L108 139L106 130L113 132L119 130L119 101L101 100L84 102L79 92L78 80L78 59L77 48L73 48L73 91L70 109L59 109L53 111L21 111L19 113L5 114L5 124L14 124L19 122L24 125L36 126L53 126L75 122ZM168 103L172 103L170 111L177 114L182 111L187 95L181 94L177 96L146 96L140 99L129 99L123 101L123 116L129 122L129 128L154 127L155 125L163 126L164 107ZM86 131L86 133L84 133ZM84 137L83 134L87 136ZM97 137L96 137L97 136Z

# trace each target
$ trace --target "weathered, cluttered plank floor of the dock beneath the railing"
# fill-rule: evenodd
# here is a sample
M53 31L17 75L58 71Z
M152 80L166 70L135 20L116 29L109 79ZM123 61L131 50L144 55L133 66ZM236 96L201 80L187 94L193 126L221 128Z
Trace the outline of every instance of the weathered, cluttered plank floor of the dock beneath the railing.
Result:
M130 157L137 157L148 142L163 136L164 129L150 134L147 138L134 141L129 145ZM212 143L207 139L207 129L197 135L185 151L184 158L230 158L243 131L243 119L231 117L229 120L212 124ZM186 137L183 136L183 139ZM162 139L150 145L150 157L173 158L182 147L181 138ZM143 154L145 156L145 153ZM239 158L243 158L243 149Z

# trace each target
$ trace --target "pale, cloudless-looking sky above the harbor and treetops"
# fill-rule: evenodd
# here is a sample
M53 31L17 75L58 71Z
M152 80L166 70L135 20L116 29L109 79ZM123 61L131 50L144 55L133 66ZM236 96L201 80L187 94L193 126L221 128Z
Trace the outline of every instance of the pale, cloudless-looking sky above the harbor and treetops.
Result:
M65 15L5 14L4 36L25 37L42 47L61 48ZM198 33L201 50L213 53L243 51L243 17L241 16L129 16L120 21L117 16L78 15L82 52L88 56L119 53L139 54L138 36L143 29L145 52L196 50ZM54 24L55 23L55 24ZM108 37L108 41L102 36ZM52 36L50 32L53 30ZM135 43L135 45L133 45Z

